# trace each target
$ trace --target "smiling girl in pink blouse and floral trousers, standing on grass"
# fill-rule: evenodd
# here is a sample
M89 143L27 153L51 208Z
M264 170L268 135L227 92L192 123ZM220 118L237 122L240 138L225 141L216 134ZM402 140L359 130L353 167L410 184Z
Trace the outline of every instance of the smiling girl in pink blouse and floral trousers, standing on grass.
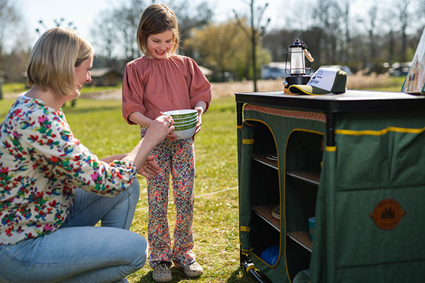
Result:
M174 12L164 4L152 4L142 13L137 30L137 44L145 56L129 62L123 79L123 117L140 125L141 137L161 111L196 109L200 131L201 115L208 109L211 87L196 62L177 55L179 28ZM171 133L155 146L160 171L147 181L149 202L149 264L157 282L172 279L171 262L188 277L202 274L203 268L193 254L193 184L195 156L193 137L176 140ZM176 224L173 245L169 235L167 206L169 175L173 182Z

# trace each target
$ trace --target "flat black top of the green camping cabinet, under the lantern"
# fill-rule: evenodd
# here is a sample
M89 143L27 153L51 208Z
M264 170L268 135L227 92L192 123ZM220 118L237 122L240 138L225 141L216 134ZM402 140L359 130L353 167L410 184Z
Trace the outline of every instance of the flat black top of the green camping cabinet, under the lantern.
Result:
M319 112L425 110L425 96L383 91L351 91L322 96L293 96L283 91L235 93L237 103Z

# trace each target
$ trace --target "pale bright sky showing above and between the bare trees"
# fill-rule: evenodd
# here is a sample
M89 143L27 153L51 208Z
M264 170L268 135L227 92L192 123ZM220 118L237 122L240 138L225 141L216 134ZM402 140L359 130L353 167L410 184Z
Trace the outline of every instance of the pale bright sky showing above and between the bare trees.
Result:
M176 0L178 3L181 0ZM200 3L202 0L189 0L192 6ZM319 1L319 0L316 0ZM370 0L351 0L351 15L362 15L371 5ZM149 2L149 1L147 1ZM161 1L157 0L157 3ZM169 3L169 0L164 2ZM233 10L239 15L249 15L250 0L212 0L210 7L213 8L215 17L212 19L215 23L220 23L229 18L234 18ZM32 47L40 34L35 32L36 28L44 31L45 28L40 25L40 19L48 28L55 27L55 20L60 21L64 18L62 25L72 22L73 27L90 42L93 42L90 30L94 25L96 17L101 11L111 10L123 3L123 0L11 0L16 10L21 13L23 25L26 25L30 47ZM311 8L315 1L312 0L255 0L256 8L268 3L263 21L271 18L268 30L272 28L303 29L310 22ZM296 11L296 13L294 13ZM286 48L286 47L285 47Z

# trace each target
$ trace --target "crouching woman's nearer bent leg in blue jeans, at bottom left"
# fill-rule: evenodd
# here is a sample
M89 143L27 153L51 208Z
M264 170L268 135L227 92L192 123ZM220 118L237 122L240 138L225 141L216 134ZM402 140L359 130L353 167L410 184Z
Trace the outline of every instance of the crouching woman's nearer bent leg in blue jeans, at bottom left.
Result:
M145 265L147 241L113 227L69 227L0 246L0 282L114 282Z

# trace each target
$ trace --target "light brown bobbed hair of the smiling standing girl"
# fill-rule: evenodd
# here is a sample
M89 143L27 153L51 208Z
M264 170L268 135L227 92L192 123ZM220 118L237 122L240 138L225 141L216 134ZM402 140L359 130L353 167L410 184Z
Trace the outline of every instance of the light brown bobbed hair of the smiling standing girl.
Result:
M173 47L171 53L175 53L179 47L179 24L174 11L166 4L149 5L142 13L139 27L137 28L137 45L143 54L149 54L147 50L147 37L157 35L170 30L173 33Z

